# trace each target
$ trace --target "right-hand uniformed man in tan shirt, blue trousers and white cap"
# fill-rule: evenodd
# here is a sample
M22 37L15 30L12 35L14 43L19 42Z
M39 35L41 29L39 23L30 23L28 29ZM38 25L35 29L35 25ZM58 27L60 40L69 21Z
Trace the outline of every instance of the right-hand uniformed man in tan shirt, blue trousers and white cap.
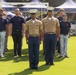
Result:
M47 17L43 22L44 44L45 44L45 61L46 65L54 65L54 53L56 48L56 40L59 39L60 25L57 18L52 16L53 8L48 8Z

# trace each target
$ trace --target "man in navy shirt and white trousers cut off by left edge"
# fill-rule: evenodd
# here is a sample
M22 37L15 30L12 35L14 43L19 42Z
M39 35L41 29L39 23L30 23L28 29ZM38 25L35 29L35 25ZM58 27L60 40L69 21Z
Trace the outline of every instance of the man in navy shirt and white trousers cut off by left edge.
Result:
M4 57L5 36L8 34L8 22L3 18L3 9L0 8L0 56Z

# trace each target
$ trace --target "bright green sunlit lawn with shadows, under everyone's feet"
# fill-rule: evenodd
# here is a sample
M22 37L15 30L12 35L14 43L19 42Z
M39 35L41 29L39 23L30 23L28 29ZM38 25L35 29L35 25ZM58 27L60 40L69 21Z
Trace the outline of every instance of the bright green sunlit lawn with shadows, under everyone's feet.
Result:
M0 75L76 75L76 37L72 36L68 42L69 58L61 59L55 56L54 66L45 66L40 46L39 70L29 70L28 46L23 39L22 57L13 58L13 41L8 38L8 49L5 58L0 57Z

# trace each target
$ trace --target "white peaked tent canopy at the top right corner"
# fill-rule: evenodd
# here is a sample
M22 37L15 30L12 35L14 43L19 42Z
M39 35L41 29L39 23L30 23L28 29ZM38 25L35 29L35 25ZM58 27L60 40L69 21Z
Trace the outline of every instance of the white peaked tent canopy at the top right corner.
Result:
M55 10L63 8L66 12L76 13L76 3L72 0L66 0L65 3L55 8Z

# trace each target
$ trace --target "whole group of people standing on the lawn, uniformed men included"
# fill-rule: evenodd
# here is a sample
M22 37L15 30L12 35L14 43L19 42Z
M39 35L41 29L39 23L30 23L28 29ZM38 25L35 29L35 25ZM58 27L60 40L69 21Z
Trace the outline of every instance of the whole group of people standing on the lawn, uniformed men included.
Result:
M43 42L45 65L54 65L54 55L57 49L59 57L68 58L67 44L70 37L71 24L64 9L60 9L57 17L53 16L53 8L47 8L47 15L43 19L36 16L37 10L29 11L26 20L17 8L14 16L7 16L0 8L0 56L4 57L7 50L8 36L14 42L14 58L21 57L22 38L26 37L29 53L30 69L38 69L39 47Z

